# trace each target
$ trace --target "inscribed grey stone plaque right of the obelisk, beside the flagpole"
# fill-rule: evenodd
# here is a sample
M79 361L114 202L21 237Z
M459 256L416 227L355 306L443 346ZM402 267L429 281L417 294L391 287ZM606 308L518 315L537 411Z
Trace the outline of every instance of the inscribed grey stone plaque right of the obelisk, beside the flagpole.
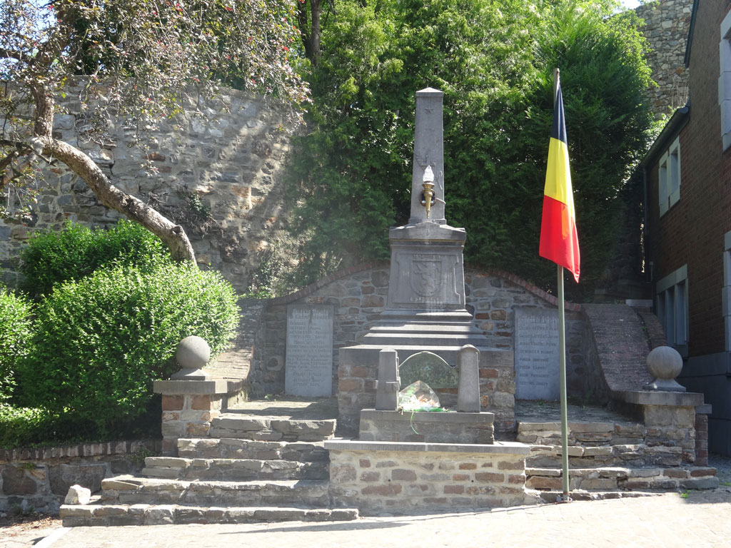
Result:
M515 397L558 400L558 312L515 309Z

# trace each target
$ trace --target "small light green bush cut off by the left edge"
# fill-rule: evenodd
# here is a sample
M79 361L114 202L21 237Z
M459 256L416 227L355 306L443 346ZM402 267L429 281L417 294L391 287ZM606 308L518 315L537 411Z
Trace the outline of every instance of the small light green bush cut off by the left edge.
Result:
M0 402L12 394L15 364L28 351L30 302L0 286Z

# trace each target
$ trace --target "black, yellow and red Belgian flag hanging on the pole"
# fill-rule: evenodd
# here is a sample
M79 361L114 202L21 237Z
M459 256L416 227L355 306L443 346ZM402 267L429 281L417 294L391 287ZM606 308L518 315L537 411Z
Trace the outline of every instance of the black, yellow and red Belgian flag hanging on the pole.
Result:
M543 216L539 255L567 268L579 281L579 237L576 232L574 195L569 172L569 148L561 83L556 86L553 128L548 147L548 167L543 191Z

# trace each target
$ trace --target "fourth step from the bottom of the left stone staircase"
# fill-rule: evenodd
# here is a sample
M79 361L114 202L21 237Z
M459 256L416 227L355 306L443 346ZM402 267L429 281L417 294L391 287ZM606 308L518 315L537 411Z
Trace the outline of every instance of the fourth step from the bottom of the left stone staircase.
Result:
M191 459L294 460L298 463L327 463L324 442L254 441L240 438L180 438L178 457Z

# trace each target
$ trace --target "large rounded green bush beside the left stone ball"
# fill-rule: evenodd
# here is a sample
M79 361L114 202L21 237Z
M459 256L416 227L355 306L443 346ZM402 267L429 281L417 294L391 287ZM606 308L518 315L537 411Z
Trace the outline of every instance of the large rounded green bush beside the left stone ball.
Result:
M18 368L23 403L88 419L104 437L144 413L152 382L174 372L182 338L204 338L211 354L224 350L238 306L218 273L120 265L57 285L35 324L33 351Z

